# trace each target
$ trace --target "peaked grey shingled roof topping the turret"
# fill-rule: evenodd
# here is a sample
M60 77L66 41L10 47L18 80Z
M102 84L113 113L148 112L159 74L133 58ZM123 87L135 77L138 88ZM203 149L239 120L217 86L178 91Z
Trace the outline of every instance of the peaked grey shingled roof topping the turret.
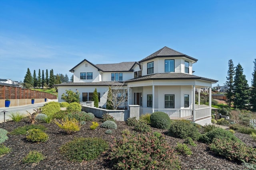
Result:
M148 61L150 59L154 59L157 57L186 57L188 59L194 60L194 61L198 61L198 59L195 59L193 57L190 57L188 55L185 55L183 53L180 53L178 51L175 51L173 49L170 49L169 47L164 47L156 52L154 52L153 54L149 55L148 57L142 59L141 61L139 61L139 63L143 62L143 61Z

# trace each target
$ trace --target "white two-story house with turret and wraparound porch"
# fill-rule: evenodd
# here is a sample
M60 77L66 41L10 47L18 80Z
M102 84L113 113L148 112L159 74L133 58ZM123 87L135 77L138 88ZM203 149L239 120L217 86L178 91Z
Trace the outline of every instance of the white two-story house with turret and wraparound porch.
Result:
M92 64L84 59L74 66L74 82L56 84L58 100L65 90L78 90L80 101L92 101L97 89L99 106L106 107L108 86L124 84L127 105L139 105L140 115L164 111L173 119L192 119L211 123L211 88L218 82L193 75L192 65L197 59L164 47L138 62ZM209 106L196 105L196 90L208 88ZM200 94L198 94L200 96ZM200 98L198 98L200 100Z

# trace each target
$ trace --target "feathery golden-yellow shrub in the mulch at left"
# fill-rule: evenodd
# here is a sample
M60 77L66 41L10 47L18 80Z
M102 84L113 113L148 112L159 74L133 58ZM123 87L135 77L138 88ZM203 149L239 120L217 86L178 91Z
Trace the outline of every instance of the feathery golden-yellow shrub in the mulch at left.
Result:
M60 127L60 129L63 129L68 133L69 135L80 131L79 122L76 119L62 119L62 121L58 121L57 119L54 120L54 123Z

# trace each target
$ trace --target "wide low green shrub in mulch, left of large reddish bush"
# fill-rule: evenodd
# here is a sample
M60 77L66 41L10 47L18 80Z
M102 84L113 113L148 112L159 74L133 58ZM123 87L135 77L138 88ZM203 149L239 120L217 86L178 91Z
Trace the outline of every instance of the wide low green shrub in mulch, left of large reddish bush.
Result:
M108 143L97 137L76 138L60 147L62 154L74 162L93 160L107 149Z

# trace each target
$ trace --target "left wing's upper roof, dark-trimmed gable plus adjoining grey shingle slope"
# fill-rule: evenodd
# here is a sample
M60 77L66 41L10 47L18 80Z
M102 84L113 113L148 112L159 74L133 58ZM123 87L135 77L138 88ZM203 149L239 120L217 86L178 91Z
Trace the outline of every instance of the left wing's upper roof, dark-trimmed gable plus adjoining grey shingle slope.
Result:
M122 62L122 63L116 63L116 64L92 64L90 61L84 59L79 64L77 64L76 66L71 68L71 70L69 70L69 71L70 72L74 72L74 69L77 66L79 66L80 64L84 63L84 61L86 61L87 63L89 63L92 66L94 66L95 68L97 68L98 71L102 71L102 72L112 72L112 71L115 71L115 72L121 72L121 71L122 72L126 72L126 71L133 71L132 67L137 63L137 62Z

